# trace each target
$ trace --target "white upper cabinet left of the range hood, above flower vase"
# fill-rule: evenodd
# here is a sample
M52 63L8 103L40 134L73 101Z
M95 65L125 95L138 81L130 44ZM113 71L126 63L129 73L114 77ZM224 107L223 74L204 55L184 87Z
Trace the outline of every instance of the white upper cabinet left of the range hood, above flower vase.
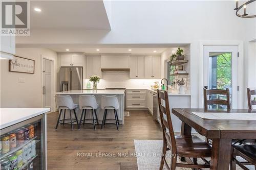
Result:
M86 78L90 79L90 76L98 75L101 77L101 58L100 56L87 56L86 62Z

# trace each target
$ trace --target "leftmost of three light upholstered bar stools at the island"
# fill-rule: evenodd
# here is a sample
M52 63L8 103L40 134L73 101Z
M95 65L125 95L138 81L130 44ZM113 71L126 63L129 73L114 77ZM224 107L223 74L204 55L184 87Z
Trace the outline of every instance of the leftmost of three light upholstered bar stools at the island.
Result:
M56 101L57 109L60 110L55 129L58 128L59 124L63 124L63 125L71 124L71 129L73 130L73 123L76 122L78 125L78 119L75 111L75 109L78 107L78 104L74 104L70 95L55 95L55 101ZM64 110L64 117L63 119L60 120L62 110ZM69 110L70 118L65 118L66 110ZM75 119L72 118L71 110L74 111ZM65 120L70 120L70 122L65 123Z

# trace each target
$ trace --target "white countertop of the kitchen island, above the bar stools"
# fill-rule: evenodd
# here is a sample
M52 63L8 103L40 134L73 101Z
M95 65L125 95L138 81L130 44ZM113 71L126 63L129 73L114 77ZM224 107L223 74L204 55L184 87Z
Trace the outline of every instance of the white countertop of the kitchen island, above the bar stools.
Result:
M55 94L124 94L124 90L70 90L56 92Z

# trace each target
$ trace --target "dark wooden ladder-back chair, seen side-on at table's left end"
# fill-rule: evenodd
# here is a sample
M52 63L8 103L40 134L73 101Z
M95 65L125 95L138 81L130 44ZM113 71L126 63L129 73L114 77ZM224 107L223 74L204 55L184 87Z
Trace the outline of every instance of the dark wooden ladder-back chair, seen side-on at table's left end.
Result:
M209 162L205 159L211 156L211 147L208 143L201 140L197 136L175 136L172 118L169 111L169 101L167 91L157 90L158 107L163 132L163 150L159 169L163 169L163 165L169 169L176 167L187 168L209 168ZM164 116L167 118L165 119ZM166 161L166 151L172 152L170 165ZM187 164L177 163L177 157L185 157ZM190 158L193 158L191 160ZM201 158L204 164L198 164L197 158Z

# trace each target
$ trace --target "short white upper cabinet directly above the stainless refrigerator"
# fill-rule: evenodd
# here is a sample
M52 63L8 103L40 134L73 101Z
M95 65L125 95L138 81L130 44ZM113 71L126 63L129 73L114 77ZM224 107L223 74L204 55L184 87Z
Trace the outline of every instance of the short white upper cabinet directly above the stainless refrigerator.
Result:
M83 55L63 54L60 56L60 66L83 66Z

